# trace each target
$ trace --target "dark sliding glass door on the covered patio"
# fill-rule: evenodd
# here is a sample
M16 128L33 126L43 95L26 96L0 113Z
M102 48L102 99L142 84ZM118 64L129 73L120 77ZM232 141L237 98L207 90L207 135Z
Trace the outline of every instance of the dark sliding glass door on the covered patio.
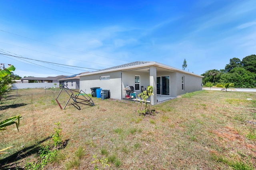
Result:
M157 94L170 95L170 76L156 77Z

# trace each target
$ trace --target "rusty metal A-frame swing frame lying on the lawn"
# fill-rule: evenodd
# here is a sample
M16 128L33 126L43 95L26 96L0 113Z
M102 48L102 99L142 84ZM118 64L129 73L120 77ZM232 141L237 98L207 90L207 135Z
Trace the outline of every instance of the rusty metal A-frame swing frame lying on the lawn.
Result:
M74 101L72 105L75 106L77 109L80 110L80 106L78 106L78 104L94 106L94 102L92 101L92 98L90 98L90 96L88 96L83 90L80 90L79 94L74 95L73 92L77 92L77 91L69 89L65 84L62 86L60 93L62 92L62 90L64 90L68 94L68 96L70 96L70 98L68 99L68 102L70 101L70 99L72 99ZM62 109L58 101L58 97L60 96L60 93L58 94L55 100L60 106L60 109ZM83 98L79 98L79 96L83 96ZM62 110L65 109L65 107L68 105L68 102L66 103L66 105L63 107Z

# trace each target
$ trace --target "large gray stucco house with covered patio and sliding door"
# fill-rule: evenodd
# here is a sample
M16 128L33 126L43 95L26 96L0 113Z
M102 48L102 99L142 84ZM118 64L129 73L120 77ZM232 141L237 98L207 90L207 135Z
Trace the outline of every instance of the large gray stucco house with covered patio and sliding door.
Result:
M80 90L89 93L90 88L100 87L110 90L110 98L114 99L126 98L126 86L133 86L137 96L147 86L153 86L152 105L202 90L203 78L192 72L150 61L137 61L78 76Z

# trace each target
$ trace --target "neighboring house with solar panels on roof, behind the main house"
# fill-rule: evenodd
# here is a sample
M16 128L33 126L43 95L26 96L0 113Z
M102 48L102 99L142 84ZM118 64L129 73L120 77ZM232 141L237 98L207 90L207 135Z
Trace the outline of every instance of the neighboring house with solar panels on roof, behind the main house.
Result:
M88 73L88 72L82 72L80 74L86 74L86 73ZM60 82L61 86L64 86L64 84L65 84L70 89L79 89L80 77L78 75L79 74L67 76L58 81Z

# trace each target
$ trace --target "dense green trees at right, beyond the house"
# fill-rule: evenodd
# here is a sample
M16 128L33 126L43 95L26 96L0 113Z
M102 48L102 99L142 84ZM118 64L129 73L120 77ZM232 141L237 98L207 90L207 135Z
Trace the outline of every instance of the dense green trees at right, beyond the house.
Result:
M256 87L256 55L244 57L242 61L238 58L230 59L225 69L207 70L203 74L204 86L224 87L230 83L236 88Z

